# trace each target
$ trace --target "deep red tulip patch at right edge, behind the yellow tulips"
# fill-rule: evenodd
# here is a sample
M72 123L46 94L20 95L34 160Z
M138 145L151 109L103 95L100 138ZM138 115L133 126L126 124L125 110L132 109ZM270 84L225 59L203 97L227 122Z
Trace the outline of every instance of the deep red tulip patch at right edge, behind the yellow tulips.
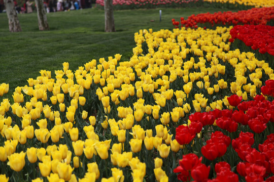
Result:
M253 50L259 49L261 54L266 52L274 56L274 27L268 25L237 25L230 30L231 39L242 40Z

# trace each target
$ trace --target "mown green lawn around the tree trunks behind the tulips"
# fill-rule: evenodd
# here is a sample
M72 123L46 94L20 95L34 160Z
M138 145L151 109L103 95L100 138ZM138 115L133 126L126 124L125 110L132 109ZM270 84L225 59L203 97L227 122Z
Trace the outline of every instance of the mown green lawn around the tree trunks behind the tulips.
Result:
M214 8L162 8L115 11L116 32L105 33L104 11L84 9L47 14L49 31L39 31L37 14L19 14L22 32L10 33L6 13L0 14L0 83L9 83L3 98L12 98L16 86L36 78L40 70L62 69L70 63L73 71L91 59L108 58L119 53L129 60L134 48L134 32L140 29L173 29L172 18L217 12ZM226 10L222 10L226 11ZM154 21L152 21L154 20Z

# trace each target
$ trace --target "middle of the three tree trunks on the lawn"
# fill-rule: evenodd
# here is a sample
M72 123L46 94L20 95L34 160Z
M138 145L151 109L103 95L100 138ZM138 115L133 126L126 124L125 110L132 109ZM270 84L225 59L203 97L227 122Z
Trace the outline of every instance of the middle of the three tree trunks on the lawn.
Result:
M46 16L46 9L43 0L35 0L39 30L49 30L49 24Z

